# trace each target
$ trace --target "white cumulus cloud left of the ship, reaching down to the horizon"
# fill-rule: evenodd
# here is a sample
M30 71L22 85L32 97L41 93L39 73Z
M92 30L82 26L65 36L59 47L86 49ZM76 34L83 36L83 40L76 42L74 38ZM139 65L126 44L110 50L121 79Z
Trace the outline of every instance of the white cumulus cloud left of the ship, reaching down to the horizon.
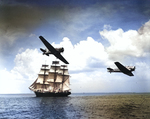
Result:
M18 53L12 70L0 70L0 93L26 93L29 80L36 79L43 60L37 49L26 49L24 52Z

